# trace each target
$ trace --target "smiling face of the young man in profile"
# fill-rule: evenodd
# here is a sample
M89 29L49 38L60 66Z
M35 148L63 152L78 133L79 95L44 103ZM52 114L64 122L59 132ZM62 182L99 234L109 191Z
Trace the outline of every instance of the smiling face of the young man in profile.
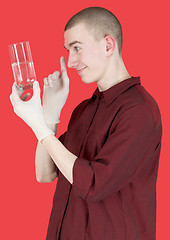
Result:
M106 72L105 41L96 41L84 24L64 33L65 48L69 51L68 67L75 68L84 83L100 81Z

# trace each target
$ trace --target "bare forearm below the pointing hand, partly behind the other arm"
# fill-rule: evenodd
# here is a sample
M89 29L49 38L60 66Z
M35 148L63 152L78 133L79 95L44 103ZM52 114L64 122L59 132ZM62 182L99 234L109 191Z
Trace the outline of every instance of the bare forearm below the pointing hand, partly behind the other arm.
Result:
M57 124L48 125L53 131L57 132ZM38 182L52 182L57 177L56 164L52 160L45 146L38 142L35 154L35 171Z

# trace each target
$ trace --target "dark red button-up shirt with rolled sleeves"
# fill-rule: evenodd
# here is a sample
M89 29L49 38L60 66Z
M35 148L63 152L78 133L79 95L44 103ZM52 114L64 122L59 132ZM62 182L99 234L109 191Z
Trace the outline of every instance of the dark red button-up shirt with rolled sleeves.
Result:
M161 136L159 108L140 77L80 103L59 138L78 156L73 184L57 169L46 239L155 240Z

